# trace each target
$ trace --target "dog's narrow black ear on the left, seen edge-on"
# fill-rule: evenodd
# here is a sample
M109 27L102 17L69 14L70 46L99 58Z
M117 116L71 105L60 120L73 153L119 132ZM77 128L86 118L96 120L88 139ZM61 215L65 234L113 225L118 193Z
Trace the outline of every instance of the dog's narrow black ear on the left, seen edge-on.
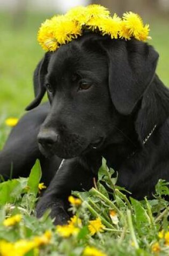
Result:
M43 96L45 95L46 88L44 85L45 82L45 75L47 74L47 68L49 63L50 53L47 52L43 59L38 63L33 77L33 85L34 85L34 94L35 99L26 107L26 110L31 110L37 107Z

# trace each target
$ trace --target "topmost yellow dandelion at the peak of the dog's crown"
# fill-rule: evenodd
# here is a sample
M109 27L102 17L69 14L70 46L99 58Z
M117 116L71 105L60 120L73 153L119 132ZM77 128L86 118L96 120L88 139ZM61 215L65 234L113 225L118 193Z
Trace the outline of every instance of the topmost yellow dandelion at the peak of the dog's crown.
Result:
M104 6L101 6L100 4L90 4L86 7L87 9L87 15L92 17L108 17L109 16L109 10L105 8Z

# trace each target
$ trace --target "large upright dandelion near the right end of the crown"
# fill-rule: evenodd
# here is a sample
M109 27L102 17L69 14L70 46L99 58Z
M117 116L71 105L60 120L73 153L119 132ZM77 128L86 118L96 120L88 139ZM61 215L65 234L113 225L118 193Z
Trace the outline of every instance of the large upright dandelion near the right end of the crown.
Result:
M123 14L124 23L126 28L129 30L131 36L137 37L139 31L143 29L143 21L137 13L126 12Z

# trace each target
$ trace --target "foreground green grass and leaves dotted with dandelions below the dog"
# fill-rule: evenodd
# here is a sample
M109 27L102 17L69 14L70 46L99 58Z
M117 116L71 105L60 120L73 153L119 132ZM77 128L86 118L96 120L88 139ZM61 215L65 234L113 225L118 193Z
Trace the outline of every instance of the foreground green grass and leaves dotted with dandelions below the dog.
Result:
M40 177L36 163L28 179L13 179L0 184L1 256L168 255L169 203L163 198L169 196L168 183L159 181L153 200L145 198L138 202L130 198L129 201L124 190L115 184L114 170L108 169L103 159L95 187L89 192L73 192L81 200L78 204L72 202L70 208L76 221L55 227L49 212L41 219L34 216ZM102 182L111 188L109 192ZM112 195L114 200L110 199ZM5 219L16 215L21 220L9 224L9 219L6 224ZM93 220L97 220L97 224L91 222ZM48 237L47 233L50 234ZM86 247L98 251L85 254Z

